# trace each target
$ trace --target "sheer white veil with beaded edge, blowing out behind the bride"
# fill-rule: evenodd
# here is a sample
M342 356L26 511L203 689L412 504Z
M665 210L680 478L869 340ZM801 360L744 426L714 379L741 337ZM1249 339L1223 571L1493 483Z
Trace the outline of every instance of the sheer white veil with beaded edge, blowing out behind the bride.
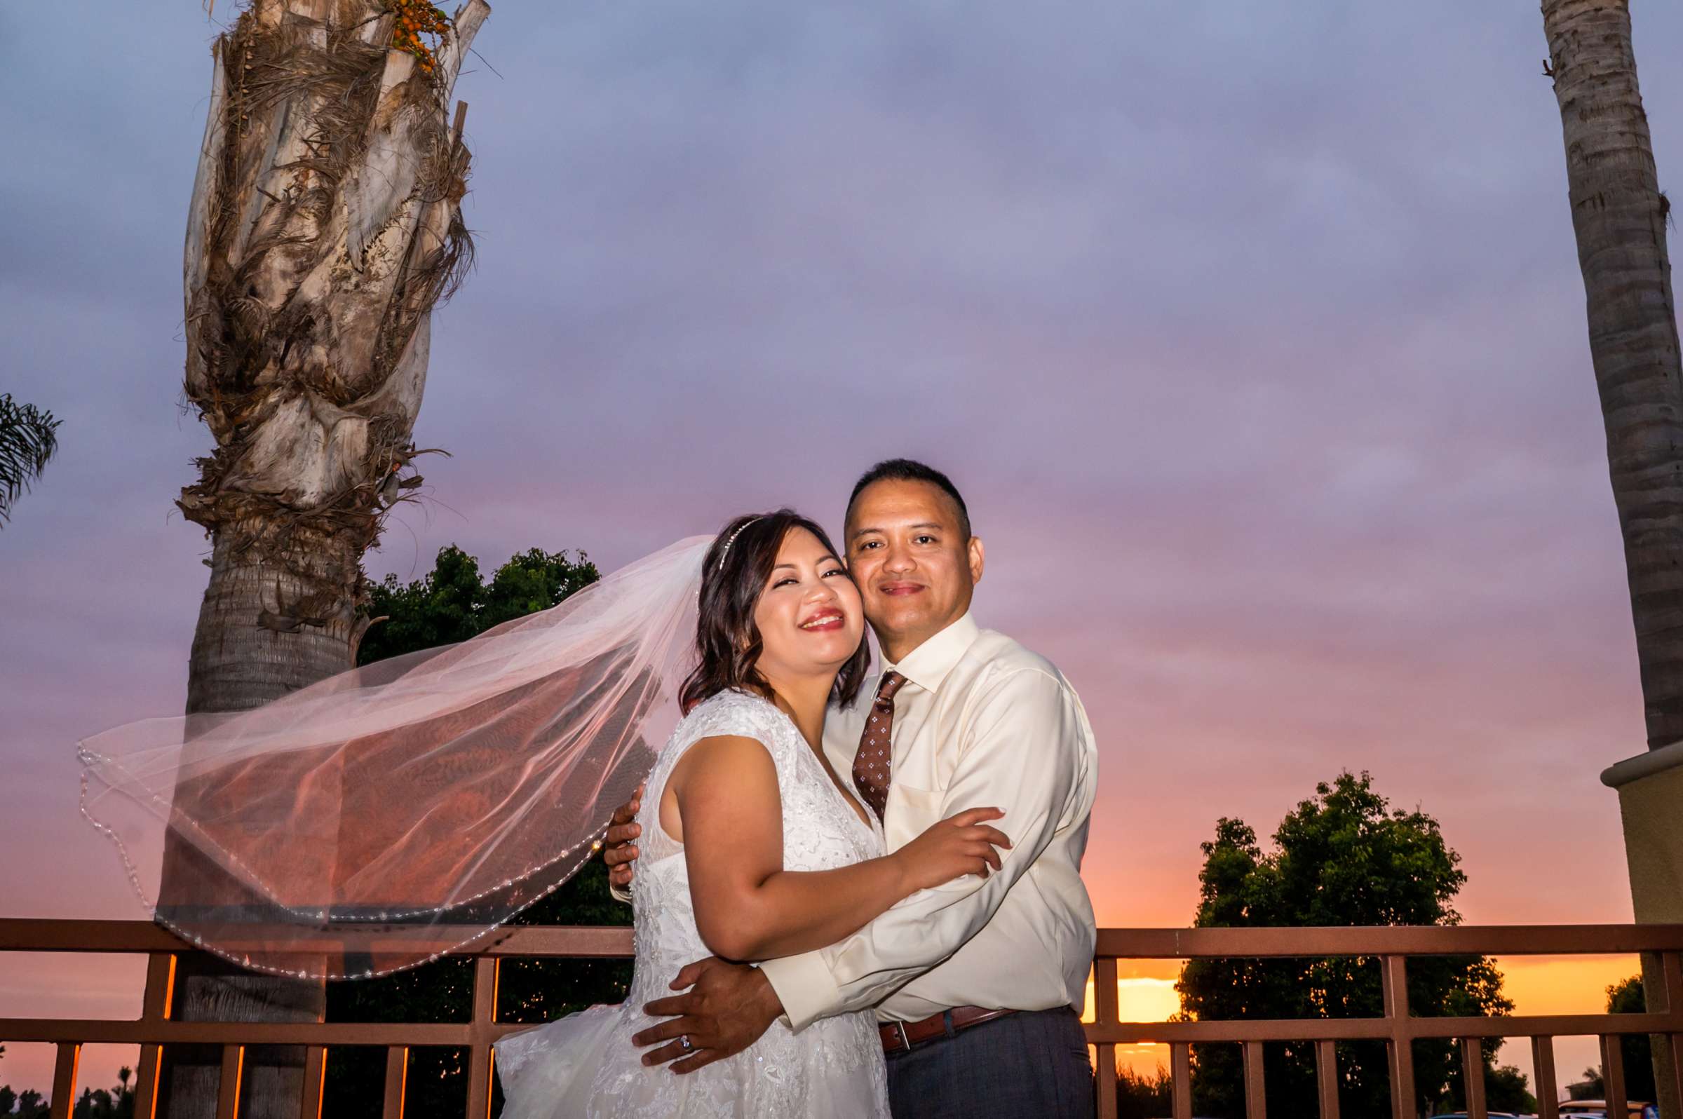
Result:
M82 814L160 924L246 968L374 978L478 947L653 767L712 542L249 712L84 739Z

